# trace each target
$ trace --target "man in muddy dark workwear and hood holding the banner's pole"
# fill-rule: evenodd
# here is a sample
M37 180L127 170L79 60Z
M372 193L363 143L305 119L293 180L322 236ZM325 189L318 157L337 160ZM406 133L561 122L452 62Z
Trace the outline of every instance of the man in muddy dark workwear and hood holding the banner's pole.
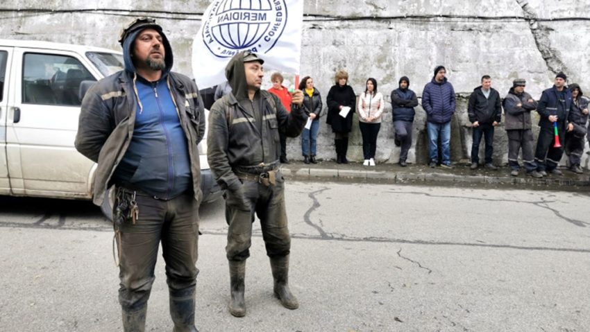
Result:
M299 306L288 285L291 238L278 135L283 130L287 137L298 136L307 116L301 90L294 92L287 113L277 96L260 89L263 63L249 51L234 55L226 67L232 91L216 101L209 114L208 161L215 180L226 189L228 308L235 317L246 315L244 277L255 213L271 261L274 294L285 308Z

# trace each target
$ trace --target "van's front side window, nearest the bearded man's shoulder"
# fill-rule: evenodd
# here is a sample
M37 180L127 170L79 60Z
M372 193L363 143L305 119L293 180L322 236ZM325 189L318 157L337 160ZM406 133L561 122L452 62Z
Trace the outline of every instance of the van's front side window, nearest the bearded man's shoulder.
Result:
M76 58L25 53L22 103L80 106L80 85L85 81L96 79Z

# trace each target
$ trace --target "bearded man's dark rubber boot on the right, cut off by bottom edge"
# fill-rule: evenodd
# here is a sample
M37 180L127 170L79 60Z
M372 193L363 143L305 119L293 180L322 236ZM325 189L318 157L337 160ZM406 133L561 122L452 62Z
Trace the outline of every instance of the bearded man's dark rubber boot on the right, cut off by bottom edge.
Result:
M194 326L194 287L186 290L169 290L170 316L174 322L172 332L198 332Z

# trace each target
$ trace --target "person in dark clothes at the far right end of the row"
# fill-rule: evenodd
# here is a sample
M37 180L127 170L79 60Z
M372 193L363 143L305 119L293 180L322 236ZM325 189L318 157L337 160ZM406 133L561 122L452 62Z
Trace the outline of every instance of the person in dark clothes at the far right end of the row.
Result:
M570 171L583 174L584 171L580 166L580 159L584 152L584 139L587 134L586 123L588 122L588 103L589 99L583 96L580 85L575 83L569 86L573 105L569 114L569 122L573 125L571 132L566 132L565 152L569 159Z

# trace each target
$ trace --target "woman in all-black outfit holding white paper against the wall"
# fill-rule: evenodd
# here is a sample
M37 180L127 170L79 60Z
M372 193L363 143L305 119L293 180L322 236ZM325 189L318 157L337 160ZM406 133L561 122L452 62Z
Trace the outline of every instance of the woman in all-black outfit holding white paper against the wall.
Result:
M348 150L348 133L353 127L353 113L357 96L353 88L347 84L348 73L339 70L335 75L335 85L328 91L328 116L326 123L332 126L334 145L336 147L336 162L348 164L346 151Z

